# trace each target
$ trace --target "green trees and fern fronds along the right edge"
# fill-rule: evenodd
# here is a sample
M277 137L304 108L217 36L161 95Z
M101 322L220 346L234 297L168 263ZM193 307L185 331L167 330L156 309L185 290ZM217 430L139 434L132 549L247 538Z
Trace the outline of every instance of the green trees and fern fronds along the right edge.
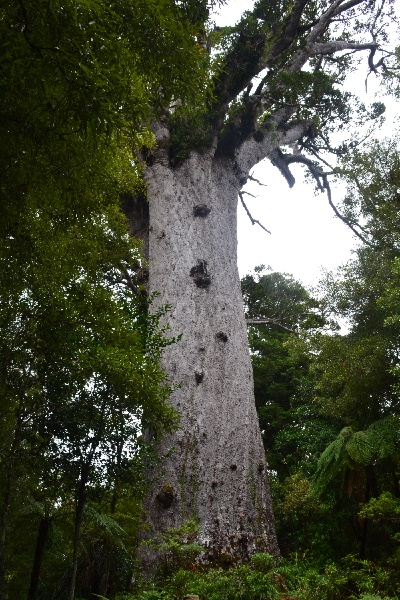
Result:
M372 143L370 150L346 158L344 210L350 222L362 219L365 243L340 273L325 279L322 292L332 314L348 319L350 331L308 340L314 405L320 415L341 423L339 435L318 460L316 489L324 501L333 501L333 511L345 509L355 533L346 535L349 543L352 536L358 541L362 557L395 562L396 522L383 515L380 522L378 515L379 506L384 511L384 501L389 505L388 498L399 493L398 330L393 318L397 148L397 140Z

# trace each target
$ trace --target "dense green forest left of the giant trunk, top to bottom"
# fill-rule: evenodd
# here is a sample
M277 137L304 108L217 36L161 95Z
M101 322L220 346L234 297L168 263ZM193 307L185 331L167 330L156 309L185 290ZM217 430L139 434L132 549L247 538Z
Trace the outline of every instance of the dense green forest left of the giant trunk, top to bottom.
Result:
M141 427L176 416L120 199L150 118L202 86L192 27L169 0L1 3L1 600L129 581Z

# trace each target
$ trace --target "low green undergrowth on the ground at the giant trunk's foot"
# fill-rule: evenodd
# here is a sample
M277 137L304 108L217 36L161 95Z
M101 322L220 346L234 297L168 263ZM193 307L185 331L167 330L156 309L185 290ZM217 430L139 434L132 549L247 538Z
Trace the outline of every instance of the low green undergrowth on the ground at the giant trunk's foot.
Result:
M269 555L248 565L228 570L178 571L159 588L142 590L120 600L175 600L196 594L200 600L361 600L396 598L396 572L347 555L340 562L317 568L307 560L283 560L278 564ZM260 560L262 565L255 564Z

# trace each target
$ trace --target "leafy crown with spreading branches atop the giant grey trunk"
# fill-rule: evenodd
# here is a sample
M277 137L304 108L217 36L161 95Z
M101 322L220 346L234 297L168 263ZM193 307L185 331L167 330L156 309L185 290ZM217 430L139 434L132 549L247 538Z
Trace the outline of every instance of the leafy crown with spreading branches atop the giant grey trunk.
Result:
M259 0L235 26L209 28L213 94L197 108L174 108L172 157L214 145L217 153L234 157L246 177L253 164L269 156L290 185L289 165L298 162L323 189L326 179L315 159L347 148L344 140L335 144L331 134L384 110L379 102L370 110L357 108L342 84L358 64L359 52L367 54L370 72L390 76L395 57L382 45L393 19L391 2ZM299 152L278 151L279 145L294 142Z

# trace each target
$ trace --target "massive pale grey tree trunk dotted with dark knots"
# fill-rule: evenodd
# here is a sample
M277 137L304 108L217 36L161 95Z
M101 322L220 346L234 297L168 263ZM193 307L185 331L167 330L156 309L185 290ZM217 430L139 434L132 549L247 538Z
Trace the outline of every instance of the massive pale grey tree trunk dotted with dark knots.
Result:
M278 554L237 270L238 176L211 152L172 168L161 144L153 161L149 287L182 336L163 359L181 422L160 444L148 519L156 532L196 519L205 560Z

